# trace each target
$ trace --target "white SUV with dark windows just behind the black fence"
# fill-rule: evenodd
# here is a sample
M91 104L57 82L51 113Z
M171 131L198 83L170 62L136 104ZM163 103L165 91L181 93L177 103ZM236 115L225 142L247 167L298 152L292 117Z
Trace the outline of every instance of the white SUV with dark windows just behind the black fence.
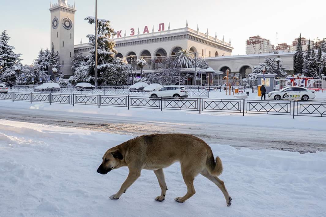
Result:
M165 86L159 90L152 91L150 97L187 98L188 91L186 91L185 87L183 86Z

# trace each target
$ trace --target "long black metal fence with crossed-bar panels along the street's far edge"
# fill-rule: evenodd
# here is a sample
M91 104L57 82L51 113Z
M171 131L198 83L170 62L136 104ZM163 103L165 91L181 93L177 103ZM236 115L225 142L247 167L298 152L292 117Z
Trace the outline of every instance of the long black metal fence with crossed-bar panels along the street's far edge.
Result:
M0 100L79 105L118 106L126 108L151 108L201 112L221 112L266 115L292 115L326 117L326 102L271 101L245 99L205 98L150 98L144 96L58 94L58 93L0 93Z

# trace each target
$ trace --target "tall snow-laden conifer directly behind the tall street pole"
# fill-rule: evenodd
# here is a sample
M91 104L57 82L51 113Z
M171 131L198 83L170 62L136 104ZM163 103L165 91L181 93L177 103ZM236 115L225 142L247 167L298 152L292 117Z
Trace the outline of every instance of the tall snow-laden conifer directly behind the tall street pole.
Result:
M88 23L94 24L95 17L86 17ZM103 73L102 64L107 64L113 61L117 54L115 47L115 41L112 39L116 32L110 25L109 20L97 19L97 73L98 77ZM90 55L87 56L87 65L89 66L90 75L94 76L95 68L95 34L88 34L89 45L94 47L90 50Z

